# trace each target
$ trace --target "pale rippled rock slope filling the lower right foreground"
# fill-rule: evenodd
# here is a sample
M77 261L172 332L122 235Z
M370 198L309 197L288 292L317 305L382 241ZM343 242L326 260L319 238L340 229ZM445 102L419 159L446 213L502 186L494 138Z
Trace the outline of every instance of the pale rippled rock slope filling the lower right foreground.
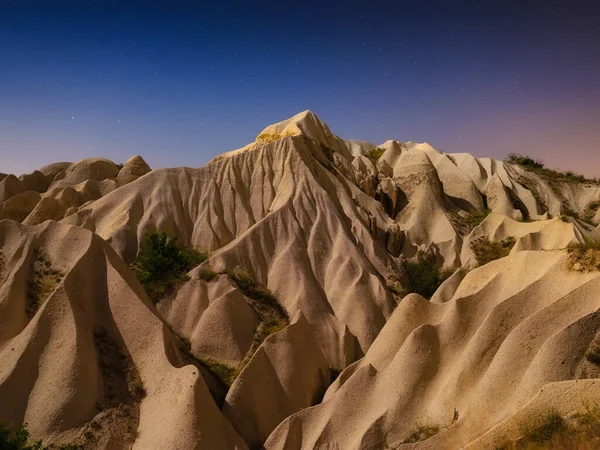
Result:
M566 258L517 252L470 272L445 303L404 298L365 358L265 448L394 448L423 423L441 432L410 448L462 448L508 419L516 437L524 408L581 409L598 386L586 395L568 380L600 326L600 273L569 272Z

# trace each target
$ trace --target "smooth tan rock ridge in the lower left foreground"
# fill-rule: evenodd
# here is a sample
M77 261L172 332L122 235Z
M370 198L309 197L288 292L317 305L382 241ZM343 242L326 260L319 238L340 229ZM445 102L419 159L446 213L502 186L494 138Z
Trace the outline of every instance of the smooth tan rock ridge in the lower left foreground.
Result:
M97 437L86 438L87 448L247 448L198 369L182 367L173 337L106 242L51 221L0 221L0 242L0 420L27 422L32 438L45 444L81 442L92 430ZM46 282L48 297L32 308L27 289L36 248L61 275ZM114 387L127 382L103 369L114 364L138 374L145 397L128 400ZM122 402L131 402L126 416L111 413L125 408Z

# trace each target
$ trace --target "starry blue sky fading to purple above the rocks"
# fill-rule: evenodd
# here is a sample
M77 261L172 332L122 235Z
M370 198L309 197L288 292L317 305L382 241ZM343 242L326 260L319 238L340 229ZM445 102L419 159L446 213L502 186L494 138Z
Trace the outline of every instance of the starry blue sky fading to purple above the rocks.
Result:
M198 167L313 110L346 139L600 174L600 2L0 0L0 172Z

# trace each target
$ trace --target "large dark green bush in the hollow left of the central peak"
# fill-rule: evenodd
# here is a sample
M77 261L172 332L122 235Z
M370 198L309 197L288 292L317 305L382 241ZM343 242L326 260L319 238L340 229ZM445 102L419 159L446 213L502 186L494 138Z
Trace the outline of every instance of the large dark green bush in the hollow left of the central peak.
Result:
M177 283L187 279L187 272L207 259L206 254L180 246L177 237L154 231L144 238L131 268L148 297L157 303Z

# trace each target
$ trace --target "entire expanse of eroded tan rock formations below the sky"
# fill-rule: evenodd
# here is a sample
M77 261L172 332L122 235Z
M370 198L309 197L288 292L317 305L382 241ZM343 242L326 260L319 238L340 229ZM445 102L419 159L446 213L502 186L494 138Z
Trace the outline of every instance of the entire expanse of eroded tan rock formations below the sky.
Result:
M600 398L600 271L569 249L598 205L310 111L200 168L0 175L0 421L86 449L500 447ZM154 230L210 255L157 304L129 267ZM431 300L423 257L451 274Z

